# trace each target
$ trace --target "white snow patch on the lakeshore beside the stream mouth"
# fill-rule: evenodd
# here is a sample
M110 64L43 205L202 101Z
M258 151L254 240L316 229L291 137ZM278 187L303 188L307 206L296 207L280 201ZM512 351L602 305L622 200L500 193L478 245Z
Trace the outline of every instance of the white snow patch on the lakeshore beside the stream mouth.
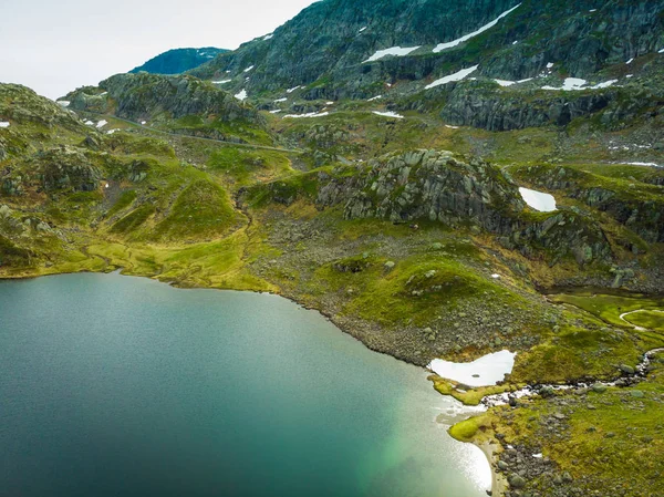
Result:
M438 376L468 386L490 386L511 373L517 354L508 350L485 355L473 362L459 363L434 359L427 366Z

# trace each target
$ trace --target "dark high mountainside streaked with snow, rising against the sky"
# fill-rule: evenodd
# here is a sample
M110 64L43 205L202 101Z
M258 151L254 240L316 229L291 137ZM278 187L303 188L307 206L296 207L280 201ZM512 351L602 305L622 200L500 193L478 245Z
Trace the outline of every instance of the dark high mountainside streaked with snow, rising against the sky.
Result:
M494 131L601 111L618 125L662 99L663 9L620 0L326 0L191 73L264 104L381 95L395 108Z

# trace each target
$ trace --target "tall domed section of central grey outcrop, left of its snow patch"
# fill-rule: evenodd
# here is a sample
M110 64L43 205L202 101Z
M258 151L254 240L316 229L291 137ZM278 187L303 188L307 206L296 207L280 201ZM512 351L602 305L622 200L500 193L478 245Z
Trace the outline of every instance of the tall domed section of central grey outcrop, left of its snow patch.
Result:
M338 201L336 182L321 188L319 205ZM347 195L347 194L346 194ZM429 219L450 226L473 224L488 231L512 229L525 207L515 184L483 161L468 163L449 152L414 151L371 161L345 203L349 219Z

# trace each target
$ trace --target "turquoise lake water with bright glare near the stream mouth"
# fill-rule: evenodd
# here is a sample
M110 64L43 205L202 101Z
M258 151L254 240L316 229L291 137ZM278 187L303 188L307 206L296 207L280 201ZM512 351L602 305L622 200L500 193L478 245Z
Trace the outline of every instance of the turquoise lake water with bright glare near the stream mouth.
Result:
M426 373L274 296L0 281L0 495L449 496L490 486Z

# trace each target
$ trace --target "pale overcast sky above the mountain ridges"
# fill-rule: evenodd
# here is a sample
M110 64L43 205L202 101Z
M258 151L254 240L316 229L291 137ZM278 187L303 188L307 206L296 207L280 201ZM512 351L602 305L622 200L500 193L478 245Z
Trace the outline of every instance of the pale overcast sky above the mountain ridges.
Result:
M55 99L169 49L240 43L313 0L0 0L0 82Z

